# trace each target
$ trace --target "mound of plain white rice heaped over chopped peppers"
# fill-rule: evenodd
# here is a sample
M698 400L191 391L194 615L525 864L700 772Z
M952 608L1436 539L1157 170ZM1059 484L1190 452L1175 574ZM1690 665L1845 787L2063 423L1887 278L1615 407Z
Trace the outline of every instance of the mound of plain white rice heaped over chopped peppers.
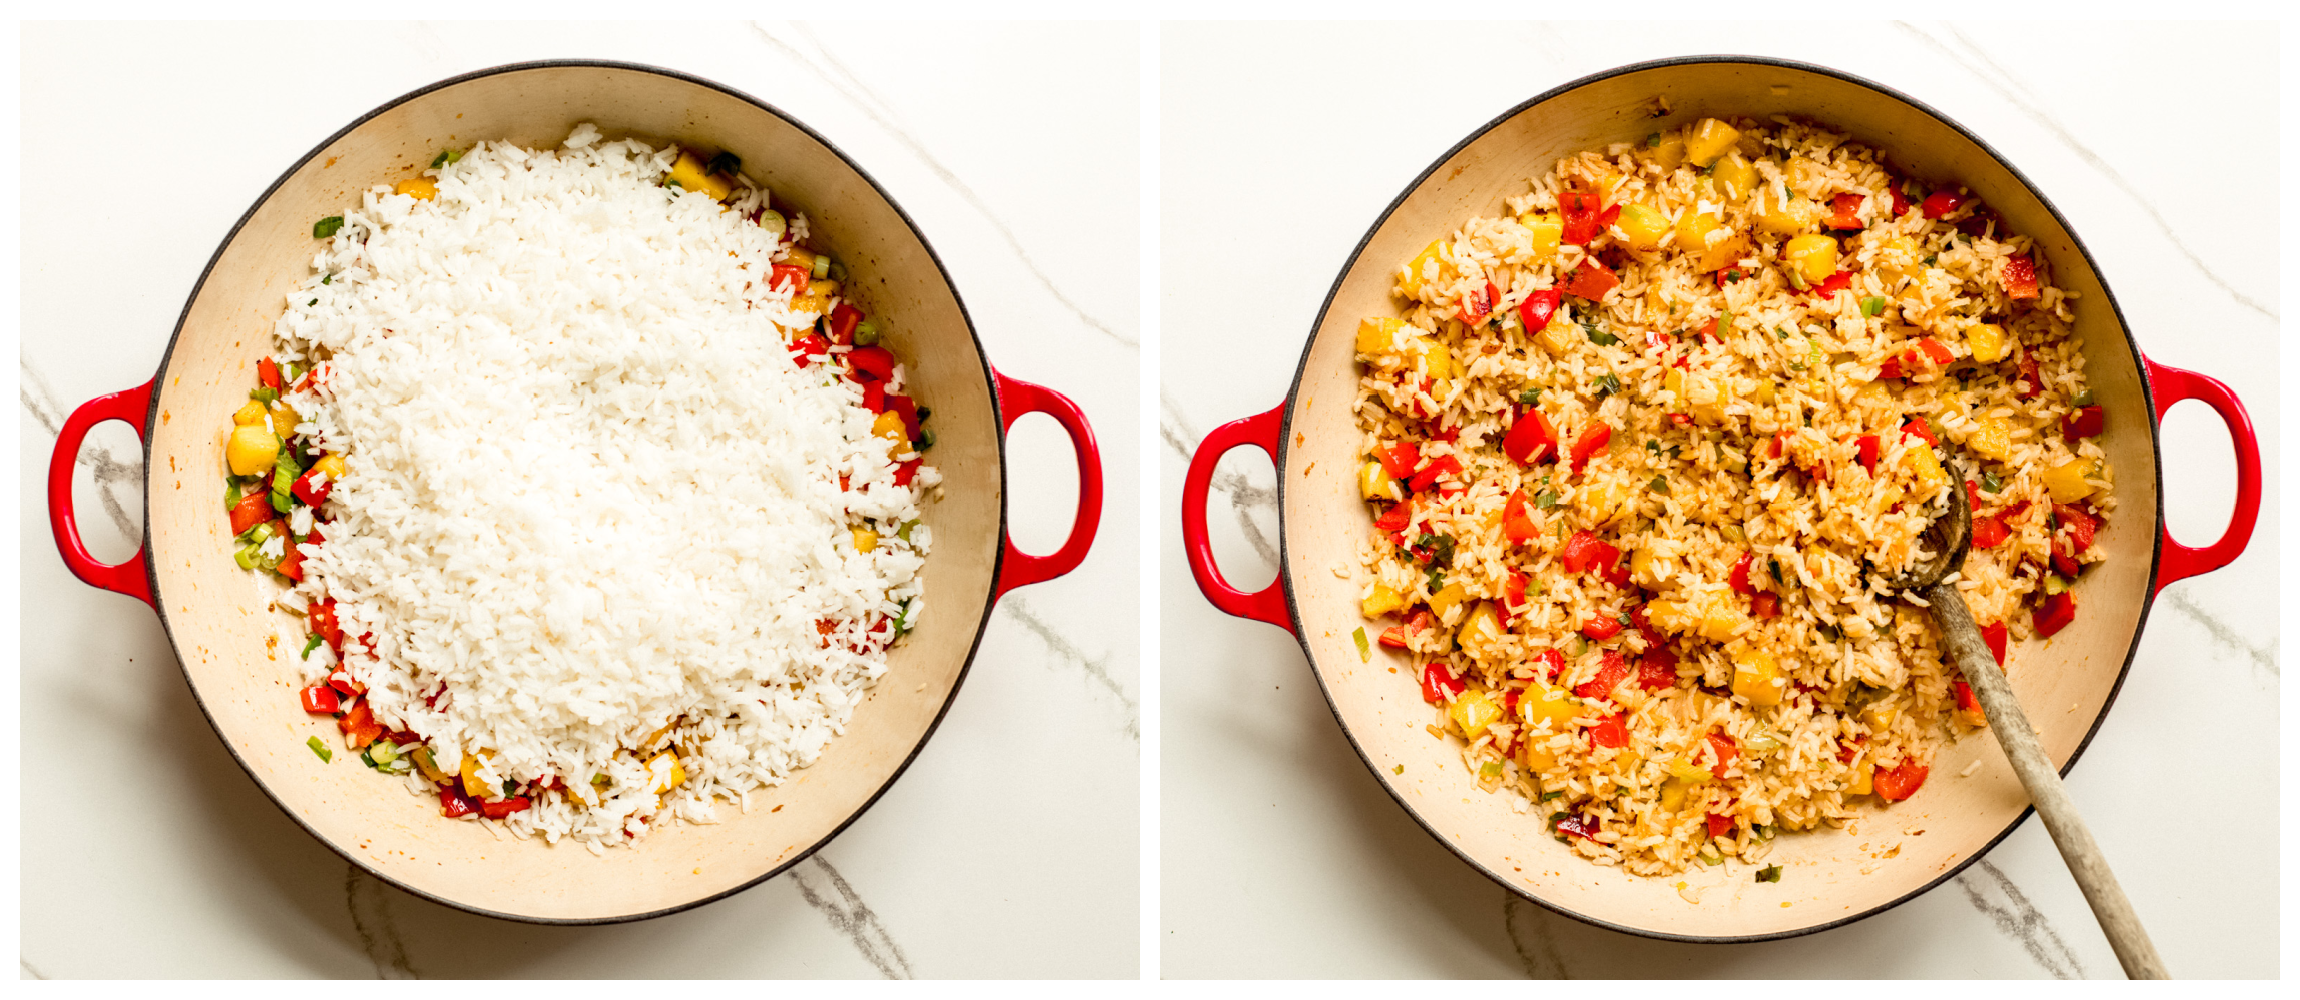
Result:
M350 464L297 593L336 600L382 726L534 793L522 834L747 807L918 621L936 474L897 478L862 386L793 363L826 306L768 276L805 218L665 186L676 154L584 124L442 156L423 198L370 189L278 320Z

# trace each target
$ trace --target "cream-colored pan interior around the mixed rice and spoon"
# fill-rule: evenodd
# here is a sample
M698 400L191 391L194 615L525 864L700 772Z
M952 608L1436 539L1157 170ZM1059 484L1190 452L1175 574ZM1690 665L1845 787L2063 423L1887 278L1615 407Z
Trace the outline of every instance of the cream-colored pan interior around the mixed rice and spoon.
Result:
M1667 101L1667 115L1651 113L1656 97ZM1511 811L1509 798L1477 791L1460 763L1458 740L1438 740L1424 729L1435 713L1421 703L1405 657L1378 651L1371 664L1359 664L1352 632L1364 625L1357 616L1362 570L1352 579L1332 572L1336 563L1357 566L1352 549L1368 531L1366 506L1350 478L1359 462L1359 434L1348 409L1357 379L1352 336L1362 317L1396 315L1389 294L1396 267L1470 216L1502 211L1502 198L1527 191L1529 179L1564 154L1640 143L1647 133L1707 115L1826 122L1886 149L1893 166L1911 177L1966 184L2015 232L2035 237L2052 262L2052 278L2079 294L2075 308L2086 370L2114 414L2102 439L2118 471L2118 508L2100 536L2109 561L2077 586L2072 628L2010 655L2012 687L2042 726L2047 754L2065 763L2107 708L2148 595L2157 483L2139 359L2068 230L2010 170L1957 129L1861 83L1755 62L1663 64L1557 94L1458 149L1405 195L1352 257L1309 347L1288 414L1281 483L1286 579L1311 662L1373 772L1428 830L1513 890L1585 920L1642 933L1741 938L1868 913L1987 848L2029 805L1996 743L1976 736L1946 747L1918 795L1872 809L1847 830L1780 837L1769 857L1789 871L1780 883L1759 885L1739 867L1633 878L1580 862L1543 823ZM1962 777L1971 761L1980 768ZM1398 766L1403 772L1396 772ZM1884 857L1893 846L1897 855ZM1700 903L1688 903L1677 880L1700 890Z

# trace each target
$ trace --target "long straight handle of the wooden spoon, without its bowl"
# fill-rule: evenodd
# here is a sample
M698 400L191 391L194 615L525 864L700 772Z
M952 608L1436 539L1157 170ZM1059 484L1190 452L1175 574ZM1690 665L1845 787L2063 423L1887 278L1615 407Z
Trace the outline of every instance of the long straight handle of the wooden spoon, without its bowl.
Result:
M1957 584L1932 584L1925 589L1925 600L1932 602L1932 618L1941 623L1941 644L1957 660L1957 667L1964 669L1973 694L1980 697L1980 710L1989 717L1989 731L2006 747L2022 789L2029 789L2029 800L2035 802L2038 818L2045 821L2045 830L2052 832L2052 841L2061 848L2068 874L2077 876L2084 901L2093 903L2093 917L2100 920L2100 931L2109 936L2109 947L2116 949L2116 961L2125 966L2125 977L2171 979L2164 972L2164 959L2157 956L2155 945L2148 940L2148 931L2141 929L2141 917L2132 913L2132 901L2116 885L2116 874L2109 871L2107 855L2100 853L2093 832L2084 828L2077 802L2061 786L2061 772L2052 768L2052 759L2038 745L2035 731L2029 729L2029 713L2019 710L2012 685L1996 669L1996 655L1980 639L1980 628L1973 625L1973 611L1964 607Z

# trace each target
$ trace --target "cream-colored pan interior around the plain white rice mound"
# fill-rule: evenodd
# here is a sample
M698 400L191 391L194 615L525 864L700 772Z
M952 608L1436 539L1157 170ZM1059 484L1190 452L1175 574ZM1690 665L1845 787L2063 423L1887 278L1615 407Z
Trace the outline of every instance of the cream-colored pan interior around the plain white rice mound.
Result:
M766 94L773 99L773 94ZM377 182L416 175L439 149L508 138L557 145L577 122L610 138L729 149L777 207L812 223L846 262L849 287L890 329L913 395L934 407L945 499L929 503L934 614L819 763L722 807L718 825L669 825L632 851L497 839L439 816L345 754L334 720L297 708L297 618L230 559L223 510L228 414L255 384L285 294L313 257L315 221ZM428 897L524 920L614 920L743 887L851 821L920 747L989 611L1000 540L998 421L987 366L943 271L899 211L830 147L722 90L644 69L545 64L465 78L396 103L331 140L271 191L200 285L156 386L147 552L168 632L193 692L248 772L338 853ZM336 749L322 763L304 740Z

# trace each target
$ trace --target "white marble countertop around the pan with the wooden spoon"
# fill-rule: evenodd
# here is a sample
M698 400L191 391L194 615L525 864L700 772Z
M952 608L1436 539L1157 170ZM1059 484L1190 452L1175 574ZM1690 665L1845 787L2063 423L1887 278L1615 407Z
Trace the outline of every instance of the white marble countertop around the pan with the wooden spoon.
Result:
M1180 538L1187 453L1286 395L1334 274L1414 175L1527 97L1679 53L1822 62L1955 117L2088 237L2153 359L2224 379L2252 409L2259 533L2233 566L2164 591L2070 791L2174 975L2275 977L2275 28L1168 23L1162 531ZM2164 444L2171 529L2203 545L2236 492L2226 434L2183 407ZM1276 572L1270 462L1235 451L1217 483L1217 554L1260 586ZM1780 943L1658 943L1529 906L1380 791L1293 637L1214 611L1180 545L1159 559L1162 975L2121 975L2035 821L1916 901Z

